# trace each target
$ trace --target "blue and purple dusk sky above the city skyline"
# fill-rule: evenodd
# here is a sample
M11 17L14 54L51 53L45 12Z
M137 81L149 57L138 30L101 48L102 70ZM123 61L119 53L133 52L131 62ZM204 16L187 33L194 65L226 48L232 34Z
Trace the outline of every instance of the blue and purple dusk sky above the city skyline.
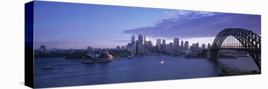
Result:
M133 34L135 40L138 34L147 36L153 45L156 39L171 43L173 38L189 41L190 45L212 44L217 33L227 27L249 29L261 35L260 15L46 1L36 1L34 13L35 49L42 44L48 49L115 48L131 43Z

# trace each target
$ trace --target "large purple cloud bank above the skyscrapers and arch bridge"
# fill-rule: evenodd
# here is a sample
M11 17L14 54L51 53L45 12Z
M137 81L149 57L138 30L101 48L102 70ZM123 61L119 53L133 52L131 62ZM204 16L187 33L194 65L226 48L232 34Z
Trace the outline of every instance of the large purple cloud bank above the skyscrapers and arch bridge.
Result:
M125 30L123 33L151 37L179 37L182 39L215 37L226 28L242 28L261 34L261 15L213 13L199 11L170 12L152 27Z

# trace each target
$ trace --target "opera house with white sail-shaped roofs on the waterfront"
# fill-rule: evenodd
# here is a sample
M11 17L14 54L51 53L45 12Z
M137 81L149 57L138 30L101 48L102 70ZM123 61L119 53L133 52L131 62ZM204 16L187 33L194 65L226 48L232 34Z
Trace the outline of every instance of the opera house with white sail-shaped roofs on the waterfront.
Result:
M93 50L90 50L85 56L83 56L82 62L108 62L108 61L114 61L114 58L112 55L109 54L109 52L106 49L102 49L99 54L96 54Z

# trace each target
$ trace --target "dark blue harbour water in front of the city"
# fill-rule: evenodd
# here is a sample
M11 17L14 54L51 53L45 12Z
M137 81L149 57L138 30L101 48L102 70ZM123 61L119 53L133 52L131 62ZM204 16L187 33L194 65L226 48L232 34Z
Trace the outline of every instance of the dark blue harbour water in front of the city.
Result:
M164 64L159 64L164 60ZM44 66L54 69L43 70ZM65 58L35 59L35 88L125 83L218 76L222 69L259 71L252 58L184 59L145 56L105 63L80 63Z

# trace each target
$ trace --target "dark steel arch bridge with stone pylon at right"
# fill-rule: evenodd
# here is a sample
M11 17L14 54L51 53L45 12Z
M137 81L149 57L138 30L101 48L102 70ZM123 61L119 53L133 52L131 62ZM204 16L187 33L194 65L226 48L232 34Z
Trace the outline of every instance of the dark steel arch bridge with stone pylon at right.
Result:
M211 45L211 59L217 59L219 50L246 51L261 70L261 37L251 30L238 28L222 30Z

